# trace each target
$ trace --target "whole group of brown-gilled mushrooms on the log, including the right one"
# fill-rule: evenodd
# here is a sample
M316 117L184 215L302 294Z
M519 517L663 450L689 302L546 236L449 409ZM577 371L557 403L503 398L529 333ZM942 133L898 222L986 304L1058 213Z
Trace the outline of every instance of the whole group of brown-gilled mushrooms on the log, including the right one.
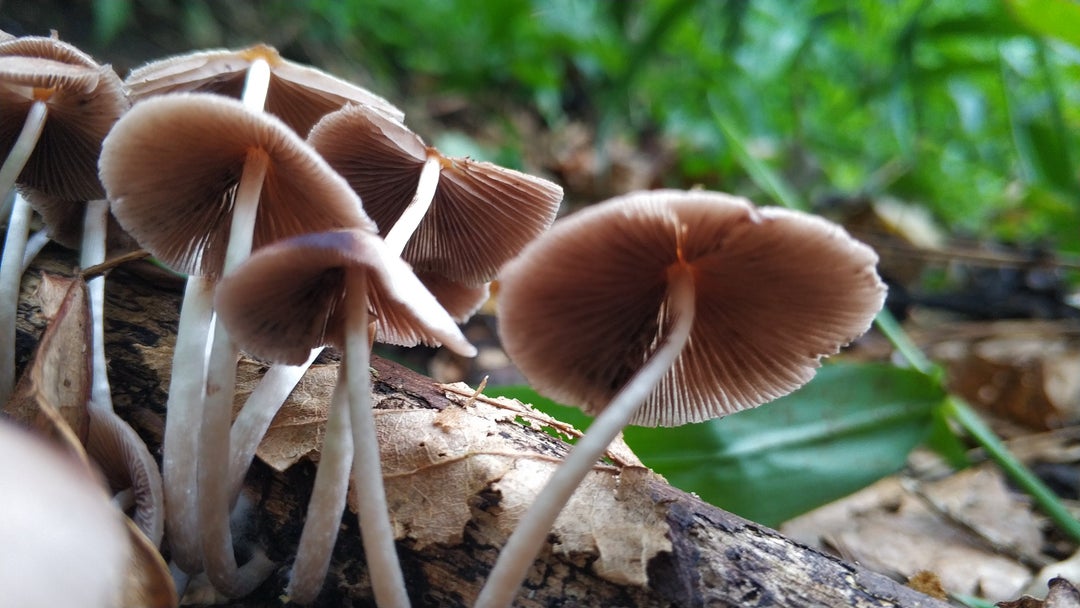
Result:
M505 606L625 424L684 424L786 394L865 332L883 299L874 253L838 227L726 194L639 192L550 229L557 185L443 154L386 99L266 45L162 59L121 83L54 38L0 36L0 191L17 185L46 217L97 201L85 206L83 266L104 259L111 213L112 232L187 275L163 491L145 444L111 411L100 281L87 400L107 429L99 460L113 442L136 454L129 476L150 497L136 519L156 545L164 535L181 594L204 573L244 596L278 568L259 546L233 545L230 517L255 446L324 347L341 364L285 590L297 604L320 593L351 482L376 603L409 605L379 462L374 341L474 355L457 324L499 278L510 356L538 390L597 415L477 599ZM29 214L12 212L9 243L26 240ZM0 325L18 294L9 253L23 258L5 244L0 300L12 309ZM272 367L233 421L241 350ZM0 405L13 375L0 360Z

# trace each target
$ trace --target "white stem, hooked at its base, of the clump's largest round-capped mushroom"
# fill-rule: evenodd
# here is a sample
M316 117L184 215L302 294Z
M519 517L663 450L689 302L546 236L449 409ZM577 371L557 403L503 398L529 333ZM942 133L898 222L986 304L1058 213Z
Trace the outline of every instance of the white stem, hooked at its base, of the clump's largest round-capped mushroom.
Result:
M233 201L222 274L232 272L251 255L259 195L269 163L265 151L248 151ZM254 591L273 568L273 564L265 557L253 558L238 568L232 550L229 468L221 467L221 462L228 462L230 457L237 354L237 347L225 325L216 322L206 367L206 395L199 433L199 527L206 575L215 589L233 597Z

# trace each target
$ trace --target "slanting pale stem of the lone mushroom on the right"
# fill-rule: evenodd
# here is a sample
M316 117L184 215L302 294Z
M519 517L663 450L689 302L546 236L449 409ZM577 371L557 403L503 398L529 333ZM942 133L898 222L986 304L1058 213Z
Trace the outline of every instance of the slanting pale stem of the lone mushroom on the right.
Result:
M504 608L511 605L563 506L675 364L693 326L694 287L689 271L679 269L670 273L667 307L674 315L674 323L663 344L596 417L540 490L499 552L474 608Z

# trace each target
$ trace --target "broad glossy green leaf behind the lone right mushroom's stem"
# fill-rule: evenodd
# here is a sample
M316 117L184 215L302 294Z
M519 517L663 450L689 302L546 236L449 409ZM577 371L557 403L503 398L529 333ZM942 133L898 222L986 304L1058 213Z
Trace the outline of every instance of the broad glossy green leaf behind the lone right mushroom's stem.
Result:
M582 414L536 398L531 389L487 392L531 401L586 425ZM674 429L634 427L624 435L672 485L777 525L902 468L927 437L943 398L941 384L918 371L835 364L796 393L756 409Z

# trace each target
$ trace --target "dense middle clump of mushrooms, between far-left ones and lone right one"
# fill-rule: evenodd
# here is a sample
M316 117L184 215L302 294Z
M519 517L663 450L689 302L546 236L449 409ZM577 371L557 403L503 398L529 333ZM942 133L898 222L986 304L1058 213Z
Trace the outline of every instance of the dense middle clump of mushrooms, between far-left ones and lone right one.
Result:
M383 606L407 605L381 498L366 336L405 346L447 342L460 353L474 353L454 321L468 319L486 298L498 268L551 225L562 189L469 159L444 159L448 177L436 188L440 172L429 168L419 179L401 153L390 153L394 138L419 141L401 122L400 110L265 45L163 59L133 71L125 84L136 103L105 140L102 181L119 224L158 259L189 275L163 447L173 559L190 575L205 571L231 596L245 595L269 573L273 565L258 551L247 564L235 563L229 513L273 411L319 349L334 344L346 353L339 383L349 390L336 393L324 450L339 457L324 458L320 465L288 593L298 603L318 593L351 469L357 486L366 488L361 496L376 501L361 510L368 564L378 575L373 576L376 599ZM373 135L372 123L383 131ZM433 148L421 148L443 159ZM373 159L376 167L400 167L375 172L376 190L355 171L345 170L367 166ZM432 165L421 158L417 166ZM377 192L387 184L405 187L387 199ZM381 218L378 225L369 213ZM483 244L472 228L488 217L508 220L498 246ZM380 228L392 233L392 244L378 237ZM410 241L419 244L410 249ZM246 320L265 319L272 298L219 295L216 306L211 298L215 292L234 293L228 285L238 284L262 293L244 281L253 272L273 273L252 268L264 268L259 260L275 252L292 258L301 249L329 266L314 267L319 279L300 299L314 298L315 285L342 283L335 287L338 296L307 301L303 308L311 313L289 320L308 335L286 342L289 351L283 355L266 350L245 326ZM402 261L403 254L409 264ZM249 264L244 262L248 255ZM288 278L297 275L293 269ZM408 306L402 309L401 302ZM362 321L367 309L376 320L374 334ZM349 330L327 325L330 320ZM275 322L261 329L283 326ZM278 337L289 336L295 338L291 333ZM230 424L238 347L274 367L267 375L272 388L257 390L256 403L245 404L238 423ZM350 435L351 448L345 443ZM347 459L350 452L354 456ZM231 470L217 467L222 460Z

